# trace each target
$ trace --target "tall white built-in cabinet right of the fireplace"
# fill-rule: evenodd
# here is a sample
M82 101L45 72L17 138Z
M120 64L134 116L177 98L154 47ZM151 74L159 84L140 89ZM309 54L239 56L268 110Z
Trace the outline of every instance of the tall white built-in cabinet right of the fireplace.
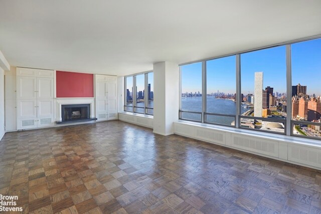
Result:
M98 121L118 119L116 76L95 75L95 104Z

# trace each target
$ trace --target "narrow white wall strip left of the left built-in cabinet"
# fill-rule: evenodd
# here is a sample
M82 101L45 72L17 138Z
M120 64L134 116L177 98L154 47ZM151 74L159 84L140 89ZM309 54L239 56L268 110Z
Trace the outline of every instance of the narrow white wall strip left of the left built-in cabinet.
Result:
M5 124L6 132L17 130L17 76L16 67L5 71Z

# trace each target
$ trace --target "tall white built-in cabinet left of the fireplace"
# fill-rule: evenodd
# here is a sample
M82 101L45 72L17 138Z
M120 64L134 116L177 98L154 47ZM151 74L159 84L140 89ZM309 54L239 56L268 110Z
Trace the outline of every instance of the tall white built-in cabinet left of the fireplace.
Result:
M17 68L17 129L54 124L54 71Z

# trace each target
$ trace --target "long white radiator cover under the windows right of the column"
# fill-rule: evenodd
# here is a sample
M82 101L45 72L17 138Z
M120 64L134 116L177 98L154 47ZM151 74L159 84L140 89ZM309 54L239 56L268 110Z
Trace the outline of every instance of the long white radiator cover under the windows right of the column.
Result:
M321 170L321 141L319 144L308 144L302 143L305 139L296 137L288 137L286 140L287 136L276 134L271 134L273 137L269 137L269 134L257 136L261 132L235 131L233 128L224 130L185 122L175 122L174 133Z

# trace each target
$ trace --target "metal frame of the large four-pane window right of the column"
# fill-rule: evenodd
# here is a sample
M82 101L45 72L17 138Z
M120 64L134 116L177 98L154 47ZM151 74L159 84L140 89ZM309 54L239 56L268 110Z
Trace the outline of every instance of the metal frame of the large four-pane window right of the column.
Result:
M314 36L314 37L308 37L308 38L304 38L304 39L299 39L299 40L293 40L293 41L284 42L284 43L279 43L279 44L271 45L271 46L265 46L265 47L261 47L261 48L257 48L257 49L227 54L227 55L223 55L223 56L219 56L219 57L208 58L208 59L203 59L203 60L180 64L179 65L179 87L180 87L180 89L179 89L179 93L180 93L180 96L179 96L179 119L186 120L186 121L193 121L193 122L197 122L197 123L213 124L213 125L218 125L218 126L228 126L228 127L246 129L246 130L251 130L251 131L267 132L267 133L281 134L281 135L286 135L286 136L295 136L295 137L321 140L320 137L297 135L297 134L293 133L293 125L294 124L321 126L321 123L292 120L292 118L291 118L292 103L291 103L291 99L289 99L288 96L286 97L287 107L286 107L286 118L284 118L284 119L253 117L253 116L245 116L245 115L240 114L240 112L241 112L240 111L240 109L241 109L241 58L240 58L241 54L253 52L253 51L264 50L264 49L268 49L268 48L285 46L285 48L286 48L286 94L291 95L292 94L291 45L295 44L295 43L305 42L305 41L315 40L315 39L321 39L321 35ZM236 97L235 97L235 99L236 99L236 114L235 115L225 115L225 114L217 114L217 113L210 113L209 114L209 112L206 112L206 96L207 96L207 93L206 93L206 90L207 90L207 88L206 88L206 62L209 60L215 60L215 59L220 59L220 58L229 57L229 56L235 56L235 58L236 58L236 68L235 68L235 74L236 74ZM182 70L181 70L181 68L184 65L198 63L198 62L202 62L202 112L183 111L182 110ZM198 114L201 113L201 118L202 118L201 122L182 118L182 113L184 113L184 112L198 113ZM235 116L235 120L234 120L235 123L233 126L233 125L207 122L206 115L230 116L230 117ZM276 132L276 131L241 127L241 118L260 119L262 121L270 121L270 122L280 122L280 123L284 124L284 132Z

